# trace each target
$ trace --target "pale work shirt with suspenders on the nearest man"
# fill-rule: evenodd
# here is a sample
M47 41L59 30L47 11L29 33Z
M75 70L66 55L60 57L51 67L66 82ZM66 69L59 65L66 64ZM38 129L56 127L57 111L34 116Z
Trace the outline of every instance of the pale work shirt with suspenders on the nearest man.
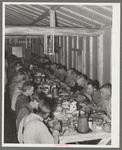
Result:
M47 126L43 123L43 118L31 113L20 122L18 141L24 144L54 144L56 143L55 137L57 137L58 133L57 131L52 136Z

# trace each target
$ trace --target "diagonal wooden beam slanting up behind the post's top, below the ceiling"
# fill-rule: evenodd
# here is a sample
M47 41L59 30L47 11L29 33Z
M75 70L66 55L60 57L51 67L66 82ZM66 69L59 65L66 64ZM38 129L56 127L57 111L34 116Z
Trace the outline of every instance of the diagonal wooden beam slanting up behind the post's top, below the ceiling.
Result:
M62 5L54 5L52 6L50 9L55 11L58 8L60 8ZM35 19L30 25L35 25L38 21L43 20L44 18L46 18L47 16L50 15L50 9L48 9L45 13L43 13L41 16L39 16L37 19Z

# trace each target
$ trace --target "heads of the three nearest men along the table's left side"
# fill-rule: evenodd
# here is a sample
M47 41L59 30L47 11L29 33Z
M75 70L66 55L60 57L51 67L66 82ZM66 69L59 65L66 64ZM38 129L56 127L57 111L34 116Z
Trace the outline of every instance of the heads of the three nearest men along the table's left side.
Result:
M56 109L55 105L55 99L47 97L45 93L43 92L34 92L34 86L31 81L24 82L22 88L23 93L26 93L27 96L30 97L30 102L34 106L35 113L41 113L41 115L47 118L47 115L49 117L54 117L53 112ZM45 118L45 119L46 119Z

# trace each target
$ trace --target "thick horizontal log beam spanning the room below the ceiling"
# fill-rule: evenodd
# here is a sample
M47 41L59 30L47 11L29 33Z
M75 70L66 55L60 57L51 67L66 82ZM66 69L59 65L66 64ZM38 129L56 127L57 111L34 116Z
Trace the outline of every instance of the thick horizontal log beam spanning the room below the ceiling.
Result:
M52 31L55 36L94 36L104 33L103 30L84 28L5 26L5 35L52 35Z

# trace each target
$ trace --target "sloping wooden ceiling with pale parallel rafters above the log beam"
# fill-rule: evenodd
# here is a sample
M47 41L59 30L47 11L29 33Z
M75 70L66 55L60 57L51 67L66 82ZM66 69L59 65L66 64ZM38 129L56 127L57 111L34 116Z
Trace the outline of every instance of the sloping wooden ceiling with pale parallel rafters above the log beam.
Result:
M5 25L50 27L50 9L56 27L95 29L112 25L111 5L5 4Z

